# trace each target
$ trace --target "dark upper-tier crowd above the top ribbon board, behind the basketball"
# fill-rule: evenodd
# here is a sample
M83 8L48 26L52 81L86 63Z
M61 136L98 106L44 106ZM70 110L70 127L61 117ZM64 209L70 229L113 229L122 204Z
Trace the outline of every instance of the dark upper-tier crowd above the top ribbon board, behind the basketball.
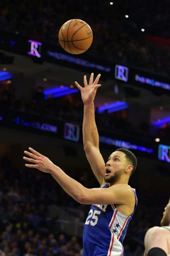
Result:
M168 0L120 0L112 5L103 0L93 4L89 0L5 0L0 6L0 29L59 46L61 25L80 18L94 34L88 54L169 76L170 49L157 47L145 36L170 36L167 5Z

